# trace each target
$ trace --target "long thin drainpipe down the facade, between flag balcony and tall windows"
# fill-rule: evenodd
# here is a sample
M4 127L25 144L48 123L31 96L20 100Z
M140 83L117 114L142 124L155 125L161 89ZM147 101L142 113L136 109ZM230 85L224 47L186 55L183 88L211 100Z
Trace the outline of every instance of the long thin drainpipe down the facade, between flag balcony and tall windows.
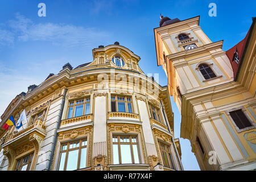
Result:
M62 117L62 114L63 114L63 109L64 109L64 104L65 104L67 92L68 92L68 89L64 89L63 100L62 100L61 109L60 109L60 115L59 115L59 119L57 121L57 129L56 129L56 132L55 132L55 140L54 140L54 143L53 143L53 146L52 146L51 158L50 158L50 161L49 161L49 164L48 164L48 167L47 167L46 171L50 170L50 168L52 166L53 156L55 155L54 151L55 151L56 143L57 143L57 130L60 128L60 121L61 121L61 117Z

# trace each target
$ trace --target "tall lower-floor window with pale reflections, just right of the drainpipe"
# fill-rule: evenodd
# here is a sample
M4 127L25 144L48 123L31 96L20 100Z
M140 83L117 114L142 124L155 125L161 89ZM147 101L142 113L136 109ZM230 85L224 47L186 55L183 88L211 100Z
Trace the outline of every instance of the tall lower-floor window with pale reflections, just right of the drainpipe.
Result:
M87 139L61 145L59 171L73 171L86 167Z

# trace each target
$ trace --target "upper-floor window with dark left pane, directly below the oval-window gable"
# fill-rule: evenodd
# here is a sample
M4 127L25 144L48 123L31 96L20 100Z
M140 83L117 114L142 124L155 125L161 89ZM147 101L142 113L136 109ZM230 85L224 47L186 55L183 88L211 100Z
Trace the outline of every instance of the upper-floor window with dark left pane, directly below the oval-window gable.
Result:
M133 113L131 97L111 96L111 111Z

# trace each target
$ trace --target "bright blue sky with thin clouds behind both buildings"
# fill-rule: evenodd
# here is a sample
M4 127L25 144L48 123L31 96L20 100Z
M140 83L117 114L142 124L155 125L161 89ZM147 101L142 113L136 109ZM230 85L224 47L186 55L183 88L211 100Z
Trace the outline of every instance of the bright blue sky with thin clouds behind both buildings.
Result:
M38 16L38 4L46 3L46 17ZM208 5L217 5L217 16L208 15ZM145 73L159 73L153 28L160 13L188 19L200 15L200 26L215 42L224 40L224 51L246 35L254 1L135 1L135 0L1 0L0 2L0 115L20 92L39 85L49 73L58 73L65 63L73 67L92 61L92 49L118 41L141 57ZM175 113L175 137L180 136L180 113ZM199 170L188 140L180 139L186 170Z

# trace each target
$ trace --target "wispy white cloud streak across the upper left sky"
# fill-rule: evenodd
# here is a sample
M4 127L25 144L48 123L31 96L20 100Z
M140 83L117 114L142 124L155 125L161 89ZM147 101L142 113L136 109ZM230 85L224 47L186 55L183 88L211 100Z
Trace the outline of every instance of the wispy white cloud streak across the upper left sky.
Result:
M85 28L65 23L34 23L19 13L8 21L9 29L0 28L0 46L9 46L16 41L44 41L64 47L88 47L97 40L109 36L96 28Z

